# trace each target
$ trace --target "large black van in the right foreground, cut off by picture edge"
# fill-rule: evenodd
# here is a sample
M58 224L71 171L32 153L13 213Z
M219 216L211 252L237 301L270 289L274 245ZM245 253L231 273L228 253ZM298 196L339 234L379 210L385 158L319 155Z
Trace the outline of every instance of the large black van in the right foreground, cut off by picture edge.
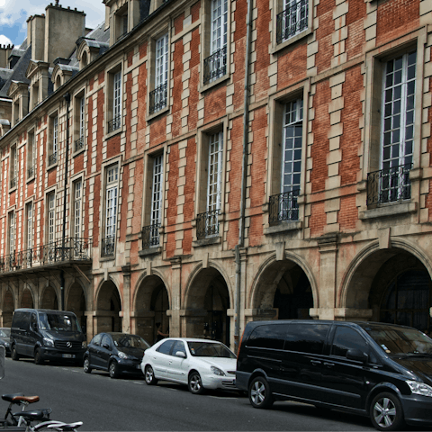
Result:
M432 339L375 322L249 322L236 386L255 408L292 400L370 416L383 431L432 425Z

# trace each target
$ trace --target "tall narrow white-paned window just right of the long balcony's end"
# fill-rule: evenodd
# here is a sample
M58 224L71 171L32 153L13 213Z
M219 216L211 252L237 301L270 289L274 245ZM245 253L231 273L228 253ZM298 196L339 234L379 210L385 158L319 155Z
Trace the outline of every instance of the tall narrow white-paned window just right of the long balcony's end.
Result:
M114 255L114 240L117 223L117 200L118 200L119 167L109 166L106 170L106 193L105 193L105 227L102 241L102 256L112 257Z

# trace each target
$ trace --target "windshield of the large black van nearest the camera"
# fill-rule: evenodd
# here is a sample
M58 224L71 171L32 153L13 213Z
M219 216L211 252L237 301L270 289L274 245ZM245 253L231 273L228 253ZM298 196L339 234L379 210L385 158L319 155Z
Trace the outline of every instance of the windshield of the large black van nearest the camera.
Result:
M432 339L416 329L365 327L386 354L392 356L432 355Z

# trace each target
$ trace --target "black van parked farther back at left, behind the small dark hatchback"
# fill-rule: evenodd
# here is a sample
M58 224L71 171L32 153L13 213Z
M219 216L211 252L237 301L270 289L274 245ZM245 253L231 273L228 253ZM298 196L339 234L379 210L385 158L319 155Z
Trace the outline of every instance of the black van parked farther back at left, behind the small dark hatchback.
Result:
M17 309L11 328L13 360L33 357L41 365L45 360L73 360L82 365L85 335L73 312L45 309Z

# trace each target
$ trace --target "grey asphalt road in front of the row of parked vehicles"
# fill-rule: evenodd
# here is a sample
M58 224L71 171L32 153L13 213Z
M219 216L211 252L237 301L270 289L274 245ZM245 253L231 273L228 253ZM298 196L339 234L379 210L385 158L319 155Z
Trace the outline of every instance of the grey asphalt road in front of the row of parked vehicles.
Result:
M0 392L37 394L31 408L51 408L51 419L83 421L80 432L372 432L369 419L306 404L275 402L272 410L253 409L237 392L193 395L186 387L143 377L112 380L108 374L84 374L69 365L34 365L6 358ZM5 412L7 403L0 401Z

